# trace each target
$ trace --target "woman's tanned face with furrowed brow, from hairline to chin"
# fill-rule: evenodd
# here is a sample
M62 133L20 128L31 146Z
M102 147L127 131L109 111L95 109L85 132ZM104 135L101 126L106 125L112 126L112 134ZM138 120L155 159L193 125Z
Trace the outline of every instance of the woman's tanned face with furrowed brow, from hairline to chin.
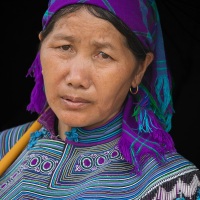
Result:
M66 127L105 124L143 73L124 36L84 9L57 21L40 58L48 104Z

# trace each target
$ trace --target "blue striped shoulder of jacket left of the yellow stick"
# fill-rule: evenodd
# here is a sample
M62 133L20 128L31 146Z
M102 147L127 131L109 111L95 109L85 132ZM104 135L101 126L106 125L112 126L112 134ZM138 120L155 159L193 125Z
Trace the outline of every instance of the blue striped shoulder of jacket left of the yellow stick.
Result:
M33 122L28 122L0 132L0 160L21 138Z

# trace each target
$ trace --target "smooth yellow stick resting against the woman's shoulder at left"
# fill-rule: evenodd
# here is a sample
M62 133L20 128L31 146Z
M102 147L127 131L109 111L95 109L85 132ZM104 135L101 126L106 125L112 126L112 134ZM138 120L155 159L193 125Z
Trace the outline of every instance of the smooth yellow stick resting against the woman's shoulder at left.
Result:
M24 135L16 142L10 151L0 160L0 176L8 169L8 167L15 161L15 159L24 150L30 140L31 133L39 130L42 125L36 120Z

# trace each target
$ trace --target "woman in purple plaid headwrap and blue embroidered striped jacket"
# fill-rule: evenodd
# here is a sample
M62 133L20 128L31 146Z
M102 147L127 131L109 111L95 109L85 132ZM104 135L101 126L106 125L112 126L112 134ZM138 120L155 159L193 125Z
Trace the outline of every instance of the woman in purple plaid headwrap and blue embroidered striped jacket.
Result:
M154 1L50 1L28 75L42 125L0 177L1 199L198 199L171 136ZM1 157L32 122L1 132Z

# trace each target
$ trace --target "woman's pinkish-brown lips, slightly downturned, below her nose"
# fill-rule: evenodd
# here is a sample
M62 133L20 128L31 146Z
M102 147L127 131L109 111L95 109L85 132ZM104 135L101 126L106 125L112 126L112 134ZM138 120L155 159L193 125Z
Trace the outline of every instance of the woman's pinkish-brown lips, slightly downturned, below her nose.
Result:
M91 103L90 101L81 97L63 96L61 98L63 100L64 105L68 109L80 109Z

